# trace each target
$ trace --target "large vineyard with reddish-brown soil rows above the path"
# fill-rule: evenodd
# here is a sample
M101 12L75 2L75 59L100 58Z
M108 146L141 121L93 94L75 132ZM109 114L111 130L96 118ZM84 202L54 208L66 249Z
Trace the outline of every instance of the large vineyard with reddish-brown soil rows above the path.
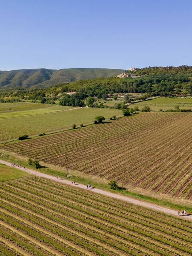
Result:
M44 163L192 200L192 114L152 112L2 145Z

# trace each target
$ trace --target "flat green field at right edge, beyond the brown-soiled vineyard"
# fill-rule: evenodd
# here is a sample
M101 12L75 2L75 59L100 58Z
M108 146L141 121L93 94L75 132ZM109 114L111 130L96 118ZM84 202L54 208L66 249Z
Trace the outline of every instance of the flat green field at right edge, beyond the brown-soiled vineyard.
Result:
M150 106L152 111L159 111L174 109L176 105L179 105L180 108L192 109L192 98L156 98L152 100L146 100L134 104L130 104L130 108L138 106L141 110L144 106Z

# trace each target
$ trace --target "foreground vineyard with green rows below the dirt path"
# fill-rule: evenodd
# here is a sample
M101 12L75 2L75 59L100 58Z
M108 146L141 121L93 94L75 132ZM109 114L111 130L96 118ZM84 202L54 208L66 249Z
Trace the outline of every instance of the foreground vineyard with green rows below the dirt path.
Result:
M75 186L0 186L1 255L189 256L191 236L191 222Z

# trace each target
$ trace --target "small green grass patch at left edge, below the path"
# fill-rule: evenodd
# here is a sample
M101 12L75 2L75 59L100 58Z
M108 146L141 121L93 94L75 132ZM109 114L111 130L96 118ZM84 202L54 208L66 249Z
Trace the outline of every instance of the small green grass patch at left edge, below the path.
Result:
M28 173L22 172L21 170L18 170L14 167L9 167L4 164L0 164L0 182L14 180L28 175Z

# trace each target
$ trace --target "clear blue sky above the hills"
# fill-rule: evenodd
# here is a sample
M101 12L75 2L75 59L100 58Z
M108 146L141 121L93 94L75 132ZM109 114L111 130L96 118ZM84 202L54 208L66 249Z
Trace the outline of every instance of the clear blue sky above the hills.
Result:
M3 0L0 34L0 70L192 66L192 0Z

